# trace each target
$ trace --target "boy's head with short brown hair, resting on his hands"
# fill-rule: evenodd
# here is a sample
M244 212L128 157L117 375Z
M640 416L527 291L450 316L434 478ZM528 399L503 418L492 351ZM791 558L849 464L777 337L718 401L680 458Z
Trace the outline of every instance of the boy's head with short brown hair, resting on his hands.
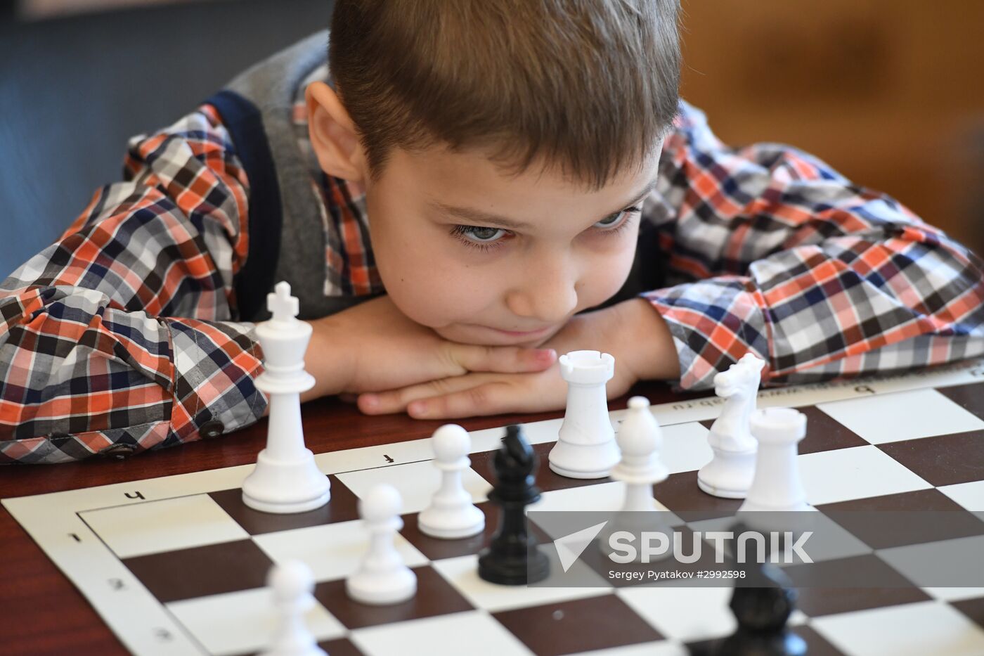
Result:
M538 344L618 291L639 224L622 211L676 113L677 5L336 2L312 145L365 185L404 313L455 341Z

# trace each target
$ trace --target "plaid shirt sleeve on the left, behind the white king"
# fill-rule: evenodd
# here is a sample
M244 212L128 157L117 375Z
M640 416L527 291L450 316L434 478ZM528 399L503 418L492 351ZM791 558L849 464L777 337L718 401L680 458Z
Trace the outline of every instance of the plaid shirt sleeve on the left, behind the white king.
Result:
M134 138L124 170L0 284L0 462L168 446L266 408L255 327L232 320L249 185L215 108Z

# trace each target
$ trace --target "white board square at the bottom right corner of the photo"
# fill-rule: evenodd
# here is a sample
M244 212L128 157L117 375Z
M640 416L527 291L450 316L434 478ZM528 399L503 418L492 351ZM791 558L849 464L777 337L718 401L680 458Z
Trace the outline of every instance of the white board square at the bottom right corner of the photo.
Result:
M816 618L817 632L852 656L980 656L984 629L937 601Z

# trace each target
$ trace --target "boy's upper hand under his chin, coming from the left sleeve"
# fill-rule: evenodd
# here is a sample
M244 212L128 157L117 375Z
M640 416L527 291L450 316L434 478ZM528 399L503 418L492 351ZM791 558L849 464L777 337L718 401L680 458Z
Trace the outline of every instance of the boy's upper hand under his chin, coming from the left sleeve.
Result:
M549 349L449 342L407 318L388 295L310 323L314 332L305 367L318 382L302 401L393 389L470 371L540 371L557 359Z

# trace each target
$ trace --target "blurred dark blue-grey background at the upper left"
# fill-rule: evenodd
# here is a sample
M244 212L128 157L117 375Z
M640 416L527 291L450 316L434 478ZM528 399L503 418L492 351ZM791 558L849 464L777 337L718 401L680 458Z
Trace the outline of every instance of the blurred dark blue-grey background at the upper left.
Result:
M331 0L226 0L0 22L0 279L120 178L128 137L331 15Z

